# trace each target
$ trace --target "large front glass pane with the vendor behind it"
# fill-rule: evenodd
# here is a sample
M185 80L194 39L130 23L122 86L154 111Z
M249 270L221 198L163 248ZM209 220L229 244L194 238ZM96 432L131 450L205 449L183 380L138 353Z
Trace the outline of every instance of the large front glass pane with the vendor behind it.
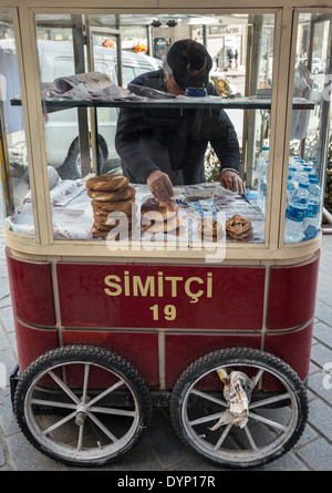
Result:
M212 213L224 215L227 243L264 242L273 14L43 14L35 23L48 164L71 197L52 203L56 239L93 238L104 199L86 194L85 178L115 173L129 179L139 205L151 194L167 198L173 189L184 217L195 224L194 233L185 227L184 242L201 242L197 225ZM201 62L206 81L197 82L196 69L185 81L175 75L178 61L167 54L185 39L200 43L199 57L208 52ZM188 62L179 64L187 71ZM98 72L107 89L89 93L85 82L54 91L58 78L87 72ZM193 81L207 86L207 97L185 94ZM84 220L77 222L79 210ZM226 235L225 220L234 216L240 223L231 223Z

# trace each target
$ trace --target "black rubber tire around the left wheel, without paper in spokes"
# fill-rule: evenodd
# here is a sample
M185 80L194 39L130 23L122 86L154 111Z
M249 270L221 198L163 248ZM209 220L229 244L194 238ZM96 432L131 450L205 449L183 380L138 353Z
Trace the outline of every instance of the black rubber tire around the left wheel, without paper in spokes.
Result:
M37 382L45 371L50 371L51 369L54 369L55 371L55 368L58 368L56 371L59 372L59 367L62 367L62 370L65 364L72 364L74 362L82 364L92 363L98 368L105 369L107 372L111 372L112 376L123 379L132 392L132 400L135 403L135 418L133 418L133 424L129 424L129 427L132 427L131 432L124 432L125 441L123 446L121 442L120 450L113 450L112 443L107 444L110 451L107 449L105 452L106 456L102 453L98 454L98 448L103 449L103 446L101 448L100 444L98 446L92 449L96 451L94 453L91 452L92 456L85 454L83 458L77 458L74 456L75 450L74 452L71 452L70 445L66 443L63 445L63 448L61 443L61 450L64 451L61 452L59 451L60 449L56 442L58 439L52 439L53 441L50 440L50 442L45 442L43 439L41 439L42 430L39 429L39 424L37 424L35 419L37 415L40 415L40 412L35 411L35 404L31 404L30 402L34 396L32 392L35 391ZM43 405L41 408L44 409ZM105 407L103 409L105 409ZM52 413L54 417L59 414L56 411L58 410L54 409L54 413ZM91 468L105 465L114 461L127 452L136 443L143 430L149 425L152 419L152 399L143 378L124 358L105 349L93 346L66 346L40 356L24 371L14 393L14 413L21 431L37 450L68 465ZM89 417L90 414L87 414L87 418ZM89 421L87 418L86 421ZM121 438L121 440L123 440L123 438ZM53 444L55 446L52 449Z

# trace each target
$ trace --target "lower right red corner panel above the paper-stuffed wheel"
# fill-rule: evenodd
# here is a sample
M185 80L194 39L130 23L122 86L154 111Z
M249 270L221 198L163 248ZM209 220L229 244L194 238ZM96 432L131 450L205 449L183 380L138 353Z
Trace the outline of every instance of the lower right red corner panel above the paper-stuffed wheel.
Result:
M312 328L313 322L294 332L268 333L266 338L266 351L286 361L301 380L309 373Z

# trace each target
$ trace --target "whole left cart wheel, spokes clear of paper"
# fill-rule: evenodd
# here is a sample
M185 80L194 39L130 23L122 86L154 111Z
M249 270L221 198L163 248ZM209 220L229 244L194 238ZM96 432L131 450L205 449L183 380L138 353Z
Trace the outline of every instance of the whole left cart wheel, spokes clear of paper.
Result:
M100 466L127 452L152 417L142 377L123 358L68 346L38 358L14 394L27 439L69 465Z

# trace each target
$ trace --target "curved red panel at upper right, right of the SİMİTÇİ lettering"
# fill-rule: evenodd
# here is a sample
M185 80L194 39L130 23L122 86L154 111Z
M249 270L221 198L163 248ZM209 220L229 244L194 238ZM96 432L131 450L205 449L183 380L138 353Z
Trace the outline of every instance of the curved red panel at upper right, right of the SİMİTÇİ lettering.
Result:
M268 329L305 323L314 315L319 255L298 266L271 267Z

